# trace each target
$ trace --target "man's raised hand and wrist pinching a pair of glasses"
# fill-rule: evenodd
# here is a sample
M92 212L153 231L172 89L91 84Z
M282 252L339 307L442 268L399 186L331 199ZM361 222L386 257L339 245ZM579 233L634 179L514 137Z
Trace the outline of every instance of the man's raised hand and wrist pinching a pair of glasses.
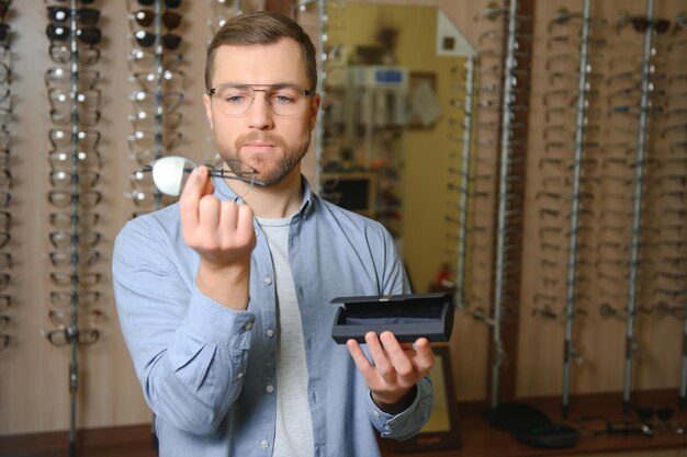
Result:
M179 198L183 239L201 256L195 277L199 289L217 302L244 310L256 245L252 210L222 202L213 191L206 167L191 173Z

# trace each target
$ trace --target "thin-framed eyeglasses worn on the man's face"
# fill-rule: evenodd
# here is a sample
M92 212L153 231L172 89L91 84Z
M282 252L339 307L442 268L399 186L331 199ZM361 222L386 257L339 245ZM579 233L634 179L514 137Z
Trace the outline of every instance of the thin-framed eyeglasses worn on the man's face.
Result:
M248 112L256 98L256 92L264 93L264 103L278 116L295 116L303 113L306 100L315 91L305 90L295 84L255 84L264 89L256 89L254 84L219 84L207 90L217 111L227 116L241 116Z

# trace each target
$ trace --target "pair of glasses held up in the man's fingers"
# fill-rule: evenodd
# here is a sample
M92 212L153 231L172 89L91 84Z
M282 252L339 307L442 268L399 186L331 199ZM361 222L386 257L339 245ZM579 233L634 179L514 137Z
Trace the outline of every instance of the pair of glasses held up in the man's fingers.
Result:
M226 165L224 168L223 165ZM215 165L201 165L210 169L210 175L225 180L237 180L249 185L264 185L257 179L258 170L238 160L223 160ZM143 173L153 174L153 183L158 191L166 195L179 196L189 179L189 175L199 168L199 164L181 156L168 156L153 161L136 171L138 176Z

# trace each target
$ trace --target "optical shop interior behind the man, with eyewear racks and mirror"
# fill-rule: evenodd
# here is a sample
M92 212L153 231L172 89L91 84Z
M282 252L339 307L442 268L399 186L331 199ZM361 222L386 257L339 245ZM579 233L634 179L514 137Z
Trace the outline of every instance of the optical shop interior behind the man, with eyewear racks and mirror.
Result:
M206 45L261 9L320 53L308 182L452 297L436 415L385 455L687 456L687 0L147 3L0 2L0 456L155 455L112 245L173 203L136 170L217 161ZM78 39L57 8L90 11Z

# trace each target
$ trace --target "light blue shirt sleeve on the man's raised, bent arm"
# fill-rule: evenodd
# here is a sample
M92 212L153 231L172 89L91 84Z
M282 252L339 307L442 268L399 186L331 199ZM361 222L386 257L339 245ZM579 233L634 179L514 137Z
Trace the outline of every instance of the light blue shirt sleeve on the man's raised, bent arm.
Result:
M179 429L211 433L241 391L255 316L204 296L195 272L179 269L190 264L179 259L183 248L160 241L173 237L157 233L162 229L150 221L134 222L115 240L112 271L144 397Z

